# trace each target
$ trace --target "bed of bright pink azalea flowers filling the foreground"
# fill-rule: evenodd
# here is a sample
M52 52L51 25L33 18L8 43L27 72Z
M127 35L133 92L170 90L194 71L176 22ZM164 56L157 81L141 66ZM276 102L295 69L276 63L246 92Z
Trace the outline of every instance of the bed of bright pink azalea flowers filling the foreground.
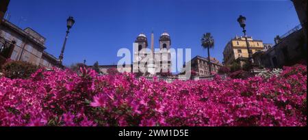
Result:
M213 81L146 81L94 70L0 78L0 126L307 126L307 68Z

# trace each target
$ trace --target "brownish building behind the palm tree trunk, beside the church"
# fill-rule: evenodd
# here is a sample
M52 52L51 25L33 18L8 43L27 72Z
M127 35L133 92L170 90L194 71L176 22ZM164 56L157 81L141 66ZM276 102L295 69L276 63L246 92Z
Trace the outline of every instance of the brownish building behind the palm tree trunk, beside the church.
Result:
M218 59L214 57L210 57L211 60L211 72L218 73L218 70L223 65L218 61ZM196 72L198 76L209 76L209 63L208 59L201 56L194 57L191 61L188 63L191 63L191 68Z

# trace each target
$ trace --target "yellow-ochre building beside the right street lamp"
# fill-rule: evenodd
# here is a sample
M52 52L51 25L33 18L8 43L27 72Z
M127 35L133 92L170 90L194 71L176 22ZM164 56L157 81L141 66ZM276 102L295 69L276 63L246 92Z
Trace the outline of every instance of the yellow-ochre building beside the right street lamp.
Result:
M251 56L264 50L264 44L262 40L253 40L252 37L247 37L249 48L252 51ZM238 58L248 59L248 51L246 46L246 40L244 37L236 36L227 43L224 47L224 65L229 66Z

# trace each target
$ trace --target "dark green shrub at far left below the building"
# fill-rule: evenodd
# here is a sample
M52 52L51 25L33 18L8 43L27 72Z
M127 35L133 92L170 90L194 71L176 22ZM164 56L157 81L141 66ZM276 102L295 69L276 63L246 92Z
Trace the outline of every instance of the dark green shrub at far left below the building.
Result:
M25 61L8 61L1 66L3 76L9 79L27 79L38 70L38 66Z

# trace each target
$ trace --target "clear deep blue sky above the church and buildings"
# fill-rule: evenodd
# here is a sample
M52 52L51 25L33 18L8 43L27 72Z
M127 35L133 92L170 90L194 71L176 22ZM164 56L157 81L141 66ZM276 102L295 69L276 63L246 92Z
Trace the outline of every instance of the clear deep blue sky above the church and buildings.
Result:
M155 46L164 30L170 33L173 48L192 48L192 57L207 56L201 48L203 33L215 39L211 56L222 61L224 46L242 29L236 21L246 16L248 36L274 43L299 24L292 1L209 1L209 0L11 0L10 22L21 28L31 27L47 38L47 51L58 57L64 41L66 18L76 20L70 31L64 64L82 62L92 65L116 64L119 48L132 49L140 32ZM150 42L149 42L150 44Z

